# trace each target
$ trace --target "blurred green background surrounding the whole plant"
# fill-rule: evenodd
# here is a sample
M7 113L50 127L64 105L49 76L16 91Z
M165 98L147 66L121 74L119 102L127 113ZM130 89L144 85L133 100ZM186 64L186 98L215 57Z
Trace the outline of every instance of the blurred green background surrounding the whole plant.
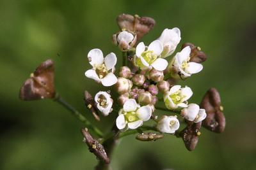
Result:
M121 57L110 41L118 31L115 18L120 13L156 20L142 39L147 45L164 28L179 27L180 45L195 43L207 53L204 70L182 84L193 89L189 100L193 103L200 103L206 90L216 87L227 127L223 134L202 129L193 152L173 136L154 143L126 137L115 150L113 169L256 169L255 6L254 0L1 0L0 169L93 169L97 164L82 142L83 124L51 100L25 102L18 94L35 67L51 58L56 89L85 113L83 91L106 90L85 78L90 67L87 53L100 48L104 55L115 52ZM115 121L113 115L102 120L93 122L105 131Z

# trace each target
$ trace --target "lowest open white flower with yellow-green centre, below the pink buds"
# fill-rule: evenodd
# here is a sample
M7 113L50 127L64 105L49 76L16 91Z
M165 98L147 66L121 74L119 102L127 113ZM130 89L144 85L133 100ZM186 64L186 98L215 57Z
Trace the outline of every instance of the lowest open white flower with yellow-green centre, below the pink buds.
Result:
M150 119L152 109L148 105L140 107L134 99L128 99L118 114L119 116L116 118L118 129L137 129L143 124L143 121Z

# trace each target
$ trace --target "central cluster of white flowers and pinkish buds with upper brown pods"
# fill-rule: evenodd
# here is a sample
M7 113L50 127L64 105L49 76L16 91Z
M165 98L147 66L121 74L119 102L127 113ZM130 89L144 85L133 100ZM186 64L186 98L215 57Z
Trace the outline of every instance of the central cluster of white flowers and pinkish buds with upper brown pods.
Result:
M85 75L106 87L114 85L119 95L114 110L118 110L116 127L120 131L138 129L151 118L157 122L156 131L179 136L180 120L184 120L188 124L187 128L191 129L191 125L201 124L207 117L204 108L188 102L193 96L191 88L179 85L180 80L202 71L206 55L200 47L191 43L184 43L181 51L173 55L181 41L180 29L177 27L164 29L159 38L148 46L138 42L155 24L148 17L143 19L149 24L138 22L142 18L138 15L120 15L117 18L120 31L113 35L113 43L124 54L123 58L117 57L123 60L118 74L114 74L115 53L109 53L104 59L101 50L93 49L88 53L93 68L86 71ZM171 55L173 57L168 59ZM96 94L95 103L104 116L113 110L113 100L107 92ZM165 108L159 106L161 103ZM166 111L168 113L163 115ZM162 116L159 119L152 118L153 114Z

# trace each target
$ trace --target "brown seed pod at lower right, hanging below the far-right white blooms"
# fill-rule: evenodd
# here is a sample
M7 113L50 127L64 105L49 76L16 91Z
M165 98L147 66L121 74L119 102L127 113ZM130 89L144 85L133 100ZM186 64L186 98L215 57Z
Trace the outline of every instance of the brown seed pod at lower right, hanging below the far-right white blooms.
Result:
M179 136L183 139L186 148L189 151L195 150L198 143L198 136L200 136L200 127L202 122L188 125L185 129L179 132Z

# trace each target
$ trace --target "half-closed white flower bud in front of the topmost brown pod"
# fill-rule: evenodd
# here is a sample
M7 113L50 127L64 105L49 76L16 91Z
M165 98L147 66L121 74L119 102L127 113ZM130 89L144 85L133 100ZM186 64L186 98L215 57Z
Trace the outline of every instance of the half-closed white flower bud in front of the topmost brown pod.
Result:
M133 34L128 31L122 31L113 35L115 45L118 45L118 47L123 51L129 50L132 46L134 46L136 43L136 38L136 35L133 36Z

